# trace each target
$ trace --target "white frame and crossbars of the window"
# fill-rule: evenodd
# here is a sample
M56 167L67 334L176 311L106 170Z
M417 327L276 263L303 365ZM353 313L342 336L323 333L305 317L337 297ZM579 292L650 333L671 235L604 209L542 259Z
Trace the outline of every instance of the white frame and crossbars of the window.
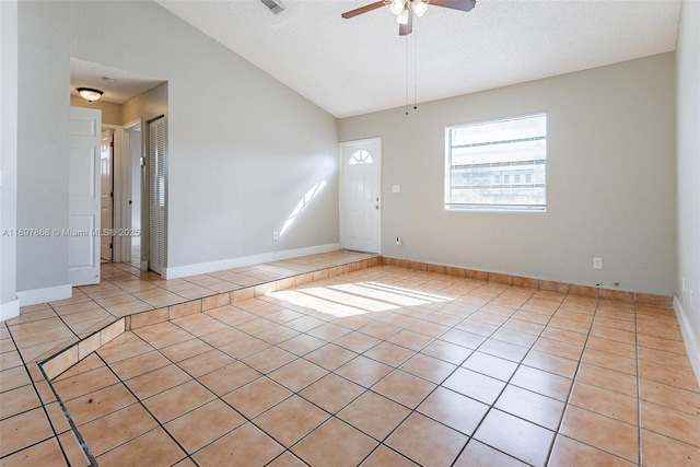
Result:
M542 180L540 183L530 183L528 184L527 182L522 182L523 179L525 179L525 177L520 177L521 183L518 185L533 185L533 186L537 186L539 188L544 188L544 202L541 203L524 203L524 202L513 202L513 203L498 203L498 202L472 202L472 203L467 203L467 202L455 202L455 200L453 199L453 189L455 187L453 187L453 170L454 170L454 165L452 163L452 152L453 149L458 149L458 148L464 148L466 145L455 145L453 144L453 130L455 129L460 129L460 128L467 128L467 127L478 127L480 125L486 125L486 124L499 124L499 122L506 122L506 121L512 121L512 120L521 120L521 119L527 119L527 118L540 118L540 117L545 117L545 121L546 121L546 126L548 127L549 125L547 124L547 113L545 112L537 112L537 113L533 113L533 114L526 114L526 115L516 115L516 116L509 116L509 117L503 117L503 118L494 118L494 119L489 119L489 120L480 120L480 121L474 121L474 122L469 122L469 124L458 124L458 125L450 125L447 127L445 127L445 182L444 182L444 206L445 206L445 210L447 211L495 211L495 212L546 212L547 211L547 159L548 159L548 154L547 154L547 130L545 130L545 135L544 136L537 136L537 137L533 137L530 138L523 138L523 139L518 139L518 140L503 140L503 141L493 141L493 142L487 142L487 143L478 143L478 144L474 144L479 145L479 144L510 144L510 143L516 143L516 142L523 142L523 141L535 141L535 140L544 140L545 142L545 156L544 159L537 159L533 161L533 165L542 165ZM513 161L515 162L515 161ZM481 164L482 165L482 164ZM513 175L513 176L510 176ZM508 174L508 173L499 173L498 175L495 173L492 173L490 175L490 179L491 179L491 188L493 188L493 185L500 185L499 188L506 186L506 185L516 185L515 183L512 183L512 179L515 179L515 175L514 174ZM494 180L502 180L502 182L494 182Z

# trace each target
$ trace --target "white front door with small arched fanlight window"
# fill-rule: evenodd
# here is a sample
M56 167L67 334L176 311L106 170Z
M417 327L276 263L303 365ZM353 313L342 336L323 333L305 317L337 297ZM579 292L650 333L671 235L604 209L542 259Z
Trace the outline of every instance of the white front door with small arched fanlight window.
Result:
M340 143L341 243L380 253L382 139Z

